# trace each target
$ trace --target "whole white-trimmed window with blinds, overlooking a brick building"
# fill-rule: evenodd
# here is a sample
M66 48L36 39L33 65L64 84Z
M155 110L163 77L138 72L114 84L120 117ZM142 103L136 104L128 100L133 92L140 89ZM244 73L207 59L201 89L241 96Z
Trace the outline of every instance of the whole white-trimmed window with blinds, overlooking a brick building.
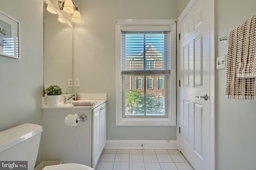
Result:
M175 37L174 20L116 20L116 125L176 125Z

